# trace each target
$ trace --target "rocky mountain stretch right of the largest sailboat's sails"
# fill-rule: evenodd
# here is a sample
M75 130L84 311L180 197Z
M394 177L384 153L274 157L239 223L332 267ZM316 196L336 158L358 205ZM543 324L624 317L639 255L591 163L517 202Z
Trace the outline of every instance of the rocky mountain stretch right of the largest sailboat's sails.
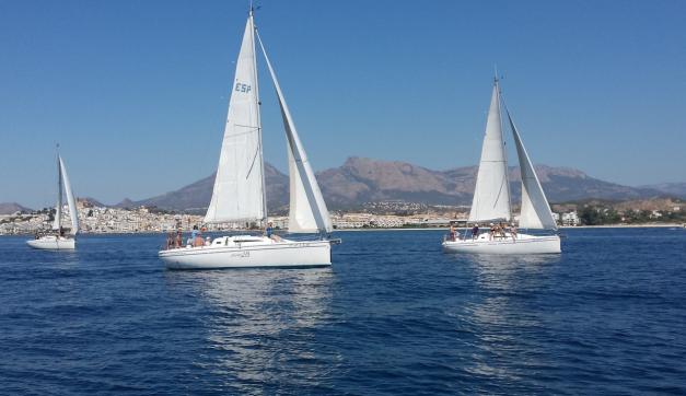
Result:
M536 165L536 173L548 199L563 202L588 198L636 199L660 196L651 188L635 188L593 178L569 167ZM433 205L470 205L476 184L476 166L431 171L398 161L350 158L337 168L319 173L327 202L354 206L364 201L400 200ZM510 167L513 201L520 200L519 167Z

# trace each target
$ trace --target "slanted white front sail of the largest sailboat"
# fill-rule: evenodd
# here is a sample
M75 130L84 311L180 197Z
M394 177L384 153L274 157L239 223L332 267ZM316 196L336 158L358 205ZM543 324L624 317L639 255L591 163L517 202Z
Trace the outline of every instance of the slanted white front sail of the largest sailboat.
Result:
M300 141L298 130L293 124L293 118L288 109L286 100L281 92L281 86L271 67L265 46L257 34L259 46L265 56L271 81L276 89L283 118L283 128L288 140L289 150L289 174L290 174L290 212L289 231L293 233L332 232L332 219L328 214L324 197L319 190L319 185L314 177L312 166L307 161L307 154Z

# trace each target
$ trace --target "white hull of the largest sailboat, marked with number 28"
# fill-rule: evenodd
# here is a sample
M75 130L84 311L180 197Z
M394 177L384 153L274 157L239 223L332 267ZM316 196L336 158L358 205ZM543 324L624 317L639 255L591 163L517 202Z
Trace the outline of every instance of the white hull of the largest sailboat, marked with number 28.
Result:
M211 245L160 252L170 269L323 267L332 265L329 241L274 241L266 236L224 236Z

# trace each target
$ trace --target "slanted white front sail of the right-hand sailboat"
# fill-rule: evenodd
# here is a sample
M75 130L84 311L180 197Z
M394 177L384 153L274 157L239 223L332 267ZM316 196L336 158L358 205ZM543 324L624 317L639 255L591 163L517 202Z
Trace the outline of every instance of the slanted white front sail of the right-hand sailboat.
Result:
M557 223L553 218L550 206L546 195L540 187L536 171L528 159L528 153L524 148L524 142L520 132L514 126L514 121L508 112L508 120L514 136L516 155L520 161L520 172L522 173L522 213L520 214L520 228L523 229L545 229L557 230Z

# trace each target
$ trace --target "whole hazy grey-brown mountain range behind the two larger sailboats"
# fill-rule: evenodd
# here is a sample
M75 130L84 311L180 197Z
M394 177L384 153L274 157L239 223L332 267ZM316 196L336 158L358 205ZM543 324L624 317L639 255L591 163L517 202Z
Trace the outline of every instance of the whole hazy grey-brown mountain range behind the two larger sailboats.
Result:
M269 211L283 212L288 205L288 176L265 164ZM317 173L317 180L329 209L359 207L370 201L407 201L429 205L470 205L476 183L476 166L433 171L407 162L380 161L352 156L341 166ZM604 182L569 167L536 165L536 173L551 202L581 199L644 199L664 196L652 187L628 187ZM510 168L513 201L520 197L520 173ZM176 191L140 201L127 201L126 207L156 206L173 210L204 211L214 183L214 175ZM118 205L121 207L121 203Z

